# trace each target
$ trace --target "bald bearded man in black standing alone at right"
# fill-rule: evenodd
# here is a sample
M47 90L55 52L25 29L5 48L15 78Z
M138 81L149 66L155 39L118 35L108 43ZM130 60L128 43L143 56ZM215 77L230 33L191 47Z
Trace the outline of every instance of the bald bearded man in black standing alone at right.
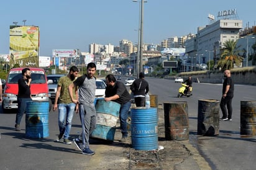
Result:
M232 121L232 99L234 97L234 81L231 79L231 71L226 69L224 71L224 77L226 78L222 87L222 97L221 97L221 111L222 118L221 121ZM227 105L227 109L226 109Z

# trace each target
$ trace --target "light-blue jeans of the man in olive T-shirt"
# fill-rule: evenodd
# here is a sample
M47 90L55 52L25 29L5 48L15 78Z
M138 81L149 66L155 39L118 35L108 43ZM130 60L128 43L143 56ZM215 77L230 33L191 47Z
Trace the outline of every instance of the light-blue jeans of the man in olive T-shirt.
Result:
M64 132L64 139L70 136L71 122L76 104L58 104L58 128L60 133ZM66 124L65 124L66 121Z

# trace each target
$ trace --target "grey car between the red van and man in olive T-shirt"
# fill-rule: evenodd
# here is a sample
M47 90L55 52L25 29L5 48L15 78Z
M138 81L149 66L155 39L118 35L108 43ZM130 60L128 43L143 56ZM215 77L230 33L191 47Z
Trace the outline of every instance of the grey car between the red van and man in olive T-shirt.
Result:
M65 74L49 74L47 76L48 91L49 91L49 96L50 96L52 103L54 103L54 101L55 101L58 80L63 76L65 76Z

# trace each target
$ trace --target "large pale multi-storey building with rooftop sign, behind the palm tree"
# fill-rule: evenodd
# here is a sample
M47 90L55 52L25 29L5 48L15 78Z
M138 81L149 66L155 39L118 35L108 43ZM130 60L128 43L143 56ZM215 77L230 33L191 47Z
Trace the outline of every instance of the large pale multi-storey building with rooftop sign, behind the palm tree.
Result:
M231 19L220 19L211 25L198 27L197 34L185 42L188 60L194 64L214 60L215 65L220 57L223 43L227 40L239 39L240 29L242 29L242 20Z

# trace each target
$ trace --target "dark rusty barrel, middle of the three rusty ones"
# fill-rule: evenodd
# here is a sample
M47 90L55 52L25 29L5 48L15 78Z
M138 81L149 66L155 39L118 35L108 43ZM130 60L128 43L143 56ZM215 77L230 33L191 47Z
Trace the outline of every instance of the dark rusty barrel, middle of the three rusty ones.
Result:
M198 100L198 135L219 135L219 101Z

